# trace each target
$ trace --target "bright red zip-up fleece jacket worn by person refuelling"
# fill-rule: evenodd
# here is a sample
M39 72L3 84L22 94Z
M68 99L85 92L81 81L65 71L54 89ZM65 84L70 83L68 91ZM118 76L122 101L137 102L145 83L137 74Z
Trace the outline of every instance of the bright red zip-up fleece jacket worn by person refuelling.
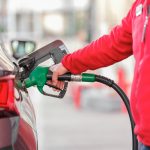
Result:
M78 74L109 66L133 54L131 110L135 134L140 142L150 146L150 20L146 23L145 19L150 15L146 9L149 3L150 0L136 0L121 25L114 27L109 35L66 55L62 63L70 72Z

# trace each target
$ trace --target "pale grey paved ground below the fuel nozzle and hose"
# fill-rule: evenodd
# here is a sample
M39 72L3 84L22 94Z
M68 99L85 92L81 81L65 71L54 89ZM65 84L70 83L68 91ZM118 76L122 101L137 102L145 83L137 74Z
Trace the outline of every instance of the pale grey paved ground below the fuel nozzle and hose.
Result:
M43 97L32 90L39 150L130 150L127 114L76 110L68 98ZM36 94L35 94L36 93Z

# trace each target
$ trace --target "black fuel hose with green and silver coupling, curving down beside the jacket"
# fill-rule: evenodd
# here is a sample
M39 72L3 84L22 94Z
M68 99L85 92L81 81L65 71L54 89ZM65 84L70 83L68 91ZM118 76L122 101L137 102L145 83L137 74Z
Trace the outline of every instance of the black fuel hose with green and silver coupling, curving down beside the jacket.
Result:
M49 80L52 79L52 75L48 75L47 78ZM111 88L113 88L121 97L122 101L125 104L125 107L127 109L130 124L131 124L131 131L132 131L132 150L138 150L138 141L136 138L136 135L134 134L134 127L135 123L132 117L132 113L130 110L130 102L124 91L111 79L101 76L101 75L95 75L95 74L88 74L83 73L82 75L72 75L70 73L61 75L58 77L58 80L60 81L75 81L75 82L99 82L102 84L105 84Z

